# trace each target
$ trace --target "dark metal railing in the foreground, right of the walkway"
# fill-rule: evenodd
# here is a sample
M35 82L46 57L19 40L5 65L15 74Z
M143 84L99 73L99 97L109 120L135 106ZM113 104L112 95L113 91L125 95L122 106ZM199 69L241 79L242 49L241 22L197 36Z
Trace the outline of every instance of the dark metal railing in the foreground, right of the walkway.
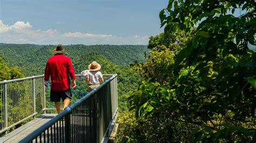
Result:
M103 142L117 115L117 74L20 142ZM104 141L105 142L105 141Z

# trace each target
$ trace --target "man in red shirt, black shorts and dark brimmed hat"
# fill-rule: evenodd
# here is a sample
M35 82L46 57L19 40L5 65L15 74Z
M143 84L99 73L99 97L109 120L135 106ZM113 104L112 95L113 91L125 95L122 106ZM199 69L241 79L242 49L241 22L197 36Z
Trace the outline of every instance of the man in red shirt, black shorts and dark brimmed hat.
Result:
M72 98L70 89L70 78L72 88L76 87L76 77L72 62L64 53L66 50L62 45L58 45L53 50L55 55L48 59L44 72L44 81L48 82L51 77L51 102L55 102L57 112L60 113L60 98L63 101L63 110L69 105Z

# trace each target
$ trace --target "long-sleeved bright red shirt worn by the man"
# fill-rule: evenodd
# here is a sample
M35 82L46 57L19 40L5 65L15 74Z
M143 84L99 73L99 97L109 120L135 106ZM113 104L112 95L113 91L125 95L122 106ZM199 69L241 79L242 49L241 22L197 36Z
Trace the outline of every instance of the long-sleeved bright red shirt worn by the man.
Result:
M52 90L66 90L70 87L70 78L75 79L72 62L68 56L55 54L48 59L44 72L44 80L51 76Z

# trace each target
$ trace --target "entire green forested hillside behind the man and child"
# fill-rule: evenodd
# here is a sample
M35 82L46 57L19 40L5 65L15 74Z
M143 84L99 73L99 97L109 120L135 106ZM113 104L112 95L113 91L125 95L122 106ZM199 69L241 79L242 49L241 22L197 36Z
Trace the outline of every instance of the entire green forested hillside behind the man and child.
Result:
M20 71L26 77L42 75L44 74L46 61L54 55L52 51L55 47L54 45L0 44L0 55L7 66L17 67L11 69ZM129 67L134 60L144 62L145 53L149 51L146 46L68 45L64 48L67 50L65 55L72 60L75 74L80 74L81 71L87 69L92 61L97 61L102 65L101 71L103 74L118 73L119 111L122 112L128 109L127 98L137 88L139 79L136 71ZM10 79L9 77L5 79L6 76L0 73L2 80ZM87 84L83 80L78 80L77 87L72 92L75 95L72 100L72 103L74 103L87 94ZM49 95L49 90L46 90L46 102L48 102L46 105L48 108L54 108L47 95Z

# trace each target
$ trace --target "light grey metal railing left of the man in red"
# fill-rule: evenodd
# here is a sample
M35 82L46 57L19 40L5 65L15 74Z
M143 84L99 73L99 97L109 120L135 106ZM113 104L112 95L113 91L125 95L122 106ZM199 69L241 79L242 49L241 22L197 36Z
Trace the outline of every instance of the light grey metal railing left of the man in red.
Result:
M0 133L45 110L44 75L0 82Z

